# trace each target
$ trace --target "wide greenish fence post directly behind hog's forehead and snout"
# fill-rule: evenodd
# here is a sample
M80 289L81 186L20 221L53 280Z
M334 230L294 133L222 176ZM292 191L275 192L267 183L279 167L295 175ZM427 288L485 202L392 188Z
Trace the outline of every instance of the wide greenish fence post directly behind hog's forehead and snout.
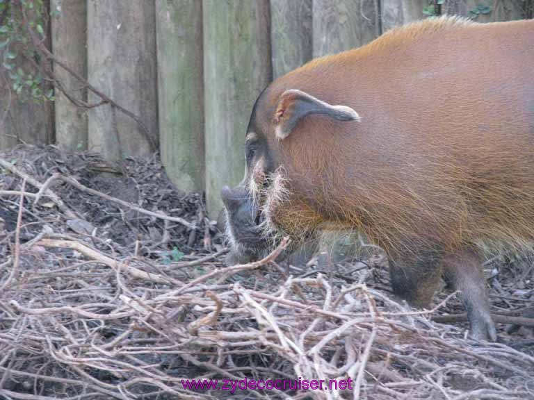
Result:
M206 199L211 217L220 189L243 178L243 142L254 101L269 83L268 0L204 0Z

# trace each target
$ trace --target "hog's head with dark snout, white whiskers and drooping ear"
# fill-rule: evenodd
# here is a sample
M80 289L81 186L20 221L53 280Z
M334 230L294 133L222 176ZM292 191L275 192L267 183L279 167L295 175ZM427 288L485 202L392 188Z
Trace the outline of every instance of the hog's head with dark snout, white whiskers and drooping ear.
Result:
M225 187L221 192L232 246L229 264L266 255L286 234L306 234L295 229L298 224L293 222L313 216L306 214L309 208L302 199L293 196L291 180L298 177L289 175L296 152L284 145L298 123L312 114L359 121L347 106L332 106L301 90L278 92L268 88L257 99L245 137L245 176L236 188Z

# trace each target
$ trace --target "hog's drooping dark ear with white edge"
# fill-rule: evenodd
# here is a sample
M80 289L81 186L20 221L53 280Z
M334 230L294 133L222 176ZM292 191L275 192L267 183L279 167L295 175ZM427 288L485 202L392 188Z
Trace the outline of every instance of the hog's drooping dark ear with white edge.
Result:
M276 107L276 137L287 138L300 119L310 114L324 114L338 121L360 122L362 120L350 107L332 106L301 90L289 89L282 93Z

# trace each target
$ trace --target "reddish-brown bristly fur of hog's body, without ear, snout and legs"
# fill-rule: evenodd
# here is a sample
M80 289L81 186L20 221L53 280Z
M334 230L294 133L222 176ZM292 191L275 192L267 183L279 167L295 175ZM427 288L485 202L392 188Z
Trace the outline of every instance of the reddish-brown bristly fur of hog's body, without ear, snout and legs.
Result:
M534 22L493 25L428 19L275 81L257 119L291 180L265 208L269 231L357 228L390 253L531 251ZM279 142L271 115L289 88L362 122L307 117Z

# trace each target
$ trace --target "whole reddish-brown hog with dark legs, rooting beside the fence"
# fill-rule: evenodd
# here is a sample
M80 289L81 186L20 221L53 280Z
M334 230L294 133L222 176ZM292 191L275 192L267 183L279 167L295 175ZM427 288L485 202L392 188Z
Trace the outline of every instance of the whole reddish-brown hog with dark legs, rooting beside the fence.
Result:
M426 308L443 277L471 335L496 340L476 249L532 251L533 43L533 21L431 19L278 78L254 105L244 186L223 190L254 199L232 203L234 233L298 247L361 231L395 294ZM236 256L268 247L241 242Z

